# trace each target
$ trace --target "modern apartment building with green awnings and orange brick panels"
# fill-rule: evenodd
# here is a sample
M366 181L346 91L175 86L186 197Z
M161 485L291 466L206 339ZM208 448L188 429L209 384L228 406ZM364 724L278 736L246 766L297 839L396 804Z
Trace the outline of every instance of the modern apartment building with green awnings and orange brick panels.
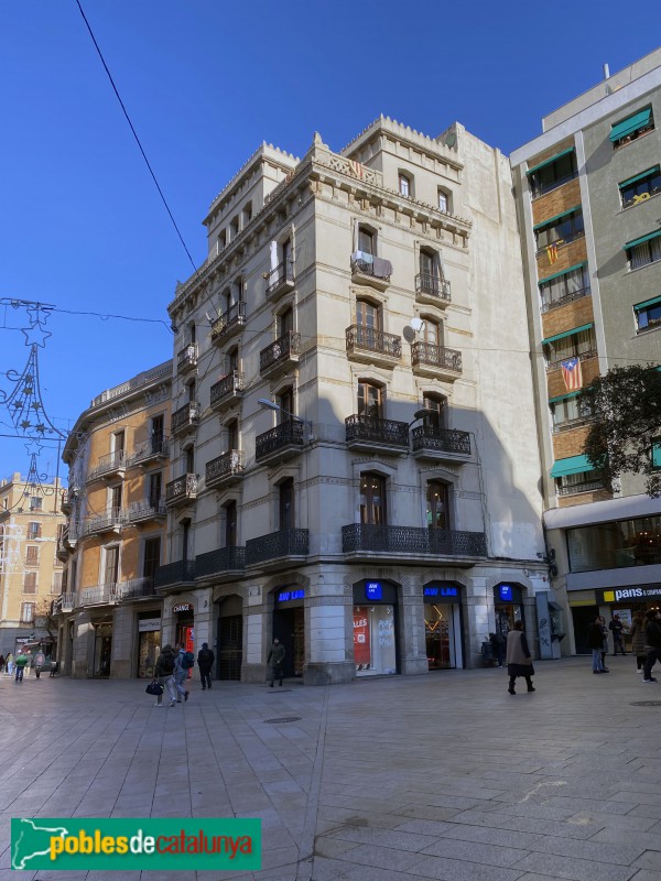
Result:
M661 499L638 476L604 486L581 402L609 368L661 362L660 85L658 50L550 113L511 156L566 652L586 651L598 611L627 621L661 601Z

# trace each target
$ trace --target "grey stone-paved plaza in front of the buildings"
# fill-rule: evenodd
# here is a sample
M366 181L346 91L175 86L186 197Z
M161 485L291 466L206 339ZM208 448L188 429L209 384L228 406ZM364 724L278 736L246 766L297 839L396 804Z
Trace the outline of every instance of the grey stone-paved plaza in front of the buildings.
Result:
M661 683L631 656L328 688L0 681L0 879L659 881ZM522 687L523 686L523 687ZM280 720L280 721L274 721ZM10 871L10 818L261 817L260 872Z

